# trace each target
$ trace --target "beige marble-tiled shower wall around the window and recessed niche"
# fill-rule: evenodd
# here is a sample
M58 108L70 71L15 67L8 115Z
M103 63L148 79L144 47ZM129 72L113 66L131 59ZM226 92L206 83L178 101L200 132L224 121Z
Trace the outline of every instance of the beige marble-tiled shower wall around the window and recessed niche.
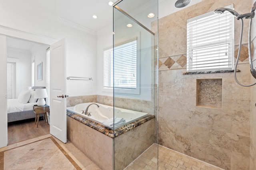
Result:
M186 20L230 4L234 4L240 14L250 12L252 6L251 0L204 0L159 19L159 144L226 170L246 170L250 164L251 88L238 85L234 73L183 75L186 72ZM156 30L156 26L157 23L152 23L152 30ZM244 26L238 65L241 72L237 77L249 84L248 20ZM235 53L239 36L240 21L235 20ZM213 98L218 106L197 105L198 80L214 79L221 80L218 84L222 86L217 93L221 98ZM201 94L212 90L210 86L202 89L205 91L201 90ZM201 103L204 102L201 100Z

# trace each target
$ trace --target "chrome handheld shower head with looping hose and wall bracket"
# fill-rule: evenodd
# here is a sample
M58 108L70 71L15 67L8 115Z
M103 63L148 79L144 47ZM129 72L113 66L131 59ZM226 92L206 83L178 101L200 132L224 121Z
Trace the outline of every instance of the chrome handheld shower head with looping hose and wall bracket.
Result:
M236 17L237 20L241 21L241 33L240 33L240 41L239 41L239 47L238 47L238 55L237 55L236 64L235 64L235 67L234 67L234 78L235 78L236 82L239 85L246 86L246 87L253 86L253 85L256 84L256 82L253 83L253 84L249 84L249 85L244 85L244 84L241 84L240 82L238 82L238 80L236 78L236 68L237 68L237 64L238 64L238 61L239 61L240 51L241 51L241 44L242 44L242 33L243 33L243 27L244 27L243 18L250 19L249 30L248 30L249 63L250 63L250 72L251 72L252 76L256 79L256 70L253 68L253 65L252 65L252 53L251 53L251 27L252 27L252 18L254 18L254 16L255 16L255 12L254 12L255 10L256 10L256 1L254 2L253 6L252 6L251 12L246 13L246 14L241 14L240 15L240 14L238 14L238 12L236 12L235 10L232 10L230 8L218 8L214 11L214 14L219 14L219 15L223 14L225 11L228 11L234 17Z

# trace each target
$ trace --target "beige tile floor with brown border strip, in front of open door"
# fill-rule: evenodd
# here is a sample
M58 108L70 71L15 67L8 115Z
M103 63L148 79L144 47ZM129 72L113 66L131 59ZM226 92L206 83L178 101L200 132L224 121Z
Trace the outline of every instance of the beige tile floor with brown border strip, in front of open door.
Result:
M69 141L44 135L0 148L0 170L100 170Z

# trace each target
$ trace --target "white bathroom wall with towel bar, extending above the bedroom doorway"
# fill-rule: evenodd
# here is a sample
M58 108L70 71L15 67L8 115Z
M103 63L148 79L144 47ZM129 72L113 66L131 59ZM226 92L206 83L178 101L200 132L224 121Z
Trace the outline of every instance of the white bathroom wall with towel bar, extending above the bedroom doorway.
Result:
M32 6L26 1L0 0L0 3L0 25L5 26L0 26L0 33L2 29L8 29L4 31L16 36L16 31L13 29L18 29L21 30L18 34L20 38L32 40L32 35L39 35L36 41L51 43L66 38L66 75L93 78L93 81L68 80L67 94L69 96L96 94L96 32L88 33L67 26L59 18L55 16L50 18L40 7ZM57 8L55 1L49 4L49 8Z

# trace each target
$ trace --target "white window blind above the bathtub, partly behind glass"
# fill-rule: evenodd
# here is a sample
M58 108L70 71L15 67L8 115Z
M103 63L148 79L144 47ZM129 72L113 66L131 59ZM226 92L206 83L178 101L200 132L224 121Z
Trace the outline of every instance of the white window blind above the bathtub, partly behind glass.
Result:
M104 51L104 87L136 89L136 81L136 39Z

